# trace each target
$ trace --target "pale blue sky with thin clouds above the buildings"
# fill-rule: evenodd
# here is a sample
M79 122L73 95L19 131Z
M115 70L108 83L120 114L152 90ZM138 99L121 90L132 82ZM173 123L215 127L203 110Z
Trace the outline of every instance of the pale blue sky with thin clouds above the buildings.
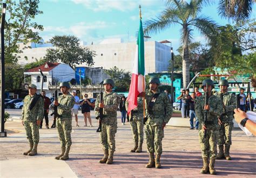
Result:
M87 44L98 44L103 39L123 38L124 42L136 42L139 27L139 4L142 6L143 22L159 15L165 8L162 0L41 0L42 15L35 22L44 26L41 37L47 41L54 35L75 35ZM255 5L254 5L255 10ZM201 12L220 25L228 22L217 13L217 5L205 6ZM255 18L255 15L252 17ZM154 41L169 40L176 50L180 46L180 25L157 34L151 34ZM205 42L196 30L195 41ZM176 52L177 53L177 52Z

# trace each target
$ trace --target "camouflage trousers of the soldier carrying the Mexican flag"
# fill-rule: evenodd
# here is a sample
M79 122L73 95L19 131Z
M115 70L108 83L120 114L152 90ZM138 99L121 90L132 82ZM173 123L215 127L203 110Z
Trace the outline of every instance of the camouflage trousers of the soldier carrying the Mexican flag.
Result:
M161 155L162 140L164 138L164 130L161 125L145 125L147 151Z

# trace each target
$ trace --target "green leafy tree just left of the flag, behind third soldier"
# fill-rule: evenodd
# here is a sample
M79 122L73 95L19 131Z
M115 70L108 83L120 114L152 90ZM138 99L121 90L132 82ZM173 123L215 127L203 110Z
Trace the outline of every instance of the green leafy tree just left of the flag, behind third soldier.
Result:
M124 69L119 69L116 66L106 70L105 72L114 81L116 85L115 91L129 91L131 83L131 73Z

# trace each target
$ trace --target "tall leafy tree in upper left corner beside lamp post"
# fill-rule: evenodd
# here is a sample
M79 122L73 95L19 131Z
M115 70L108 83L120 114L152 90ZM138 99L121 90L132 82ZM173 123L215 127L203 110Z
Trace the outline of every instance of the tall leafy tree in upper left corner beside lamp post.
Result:
M0 0L6 2L5 17L5 63L15 63L20 58L22 50L29 48L28 42L39 42L39 32L43 25L33 21L43 12L38 10L39 0ZM1 15L0 15L1 16Z

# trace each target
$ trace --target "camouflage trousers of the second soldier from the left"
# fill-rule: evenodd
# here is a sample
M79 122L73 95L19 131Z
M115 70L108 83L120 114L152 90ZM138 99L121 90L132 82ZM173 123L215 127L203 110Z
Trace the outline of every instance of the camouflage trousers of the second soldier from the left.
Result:
M59 134L60 145L67 147L72 145L71 131L72 131L72 119L71 118L57 118L56 127Z

